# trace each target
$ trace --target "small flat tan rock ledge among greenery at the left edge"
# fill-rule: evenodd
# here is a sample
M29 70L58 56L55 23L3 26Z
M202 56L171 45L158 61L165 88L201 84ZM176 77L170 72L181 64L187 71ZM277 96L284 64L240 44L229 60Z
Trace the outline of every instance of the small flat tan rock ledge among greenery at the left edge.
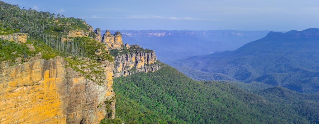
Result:
M16 43L25 43L27 36L27 33L14 33L9 35L0 35L0 39L15 41Z

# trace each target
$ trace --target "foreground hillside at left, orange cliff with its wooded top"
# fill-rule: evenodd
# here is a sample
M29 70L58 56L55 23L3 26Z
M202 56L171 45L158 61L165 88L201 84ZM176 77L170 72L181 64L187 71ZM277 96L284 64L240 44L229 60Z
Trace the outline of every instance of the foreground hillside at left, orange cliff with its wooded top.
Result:
M82 19L0 1L0 123L115 118L114 57Z

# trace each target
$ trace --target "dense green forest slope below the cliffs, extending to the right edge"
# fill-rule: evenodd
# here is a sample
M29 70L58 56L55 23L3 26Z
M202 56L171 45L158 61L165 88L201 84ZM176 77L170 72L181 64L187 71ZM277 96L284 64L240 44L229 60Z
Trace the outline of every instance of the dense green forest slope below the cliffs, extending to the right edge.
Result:
M108 123L319 123L318 95L233 83L255 94L230 83L193 81L168 65L115 78L118 119Z

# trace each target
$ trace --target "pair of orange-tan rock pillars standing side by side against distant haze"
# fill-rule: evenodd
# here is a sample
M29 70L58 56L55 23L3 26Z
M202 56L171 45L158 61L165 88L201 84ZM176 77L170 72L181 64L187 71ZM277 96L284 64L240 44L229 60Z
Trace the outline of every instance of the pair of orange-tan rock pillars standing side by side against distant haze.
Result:
M107 30L103 35L103 43L108 49L121 49L122 42L122 34L120 32L116 32L114 35Z

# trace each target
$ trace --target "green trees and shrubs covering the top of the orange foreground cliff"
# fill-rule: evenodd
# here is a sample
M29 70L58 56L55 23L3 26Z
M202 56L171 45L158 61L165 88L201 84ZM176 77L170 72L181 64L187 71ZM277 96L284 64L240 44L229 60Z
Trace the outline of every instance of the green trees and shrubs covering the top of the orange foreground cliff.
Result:
M62 56L69 62L71 68L83 73L86 78L100 84L103 69L99 69L100 61L113 62L113 56L108 55L103 43L95 41L94 33L89 37L67 37L71 30L89 32L90 26L84 20L61 14L20 9L19 5L11 5L0 1L0 34L28 33L27 43L18 44L0 41L0 61L16 57L31 57L41 52L43 59ZM59 21L55 21L58 19ZM62 39L66 40L62 40ZM35 51L31 52L26 44L33 44ZM85 59L88 58L88 59ZM97 66L97 67L94 67ZM89 74L81 69L88 68ZM92 77L94 76L94 77Z

